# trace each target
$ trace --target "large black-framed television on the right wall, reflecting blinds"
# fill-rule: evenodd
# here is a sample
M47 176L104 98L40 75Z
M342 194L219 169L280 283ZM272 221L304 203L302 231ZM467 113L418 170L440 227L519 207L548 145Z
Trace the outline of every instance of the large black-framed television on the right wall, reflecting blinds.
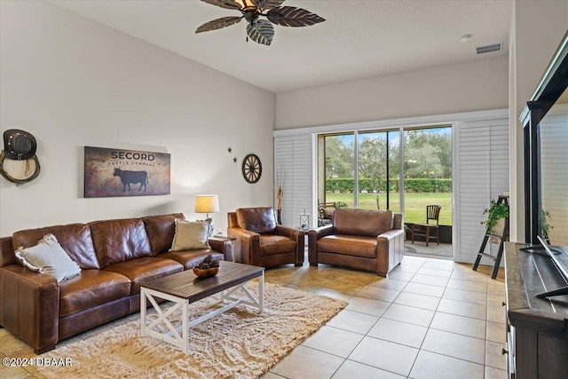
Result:
M568 32L521 115L525 241L568 246Z

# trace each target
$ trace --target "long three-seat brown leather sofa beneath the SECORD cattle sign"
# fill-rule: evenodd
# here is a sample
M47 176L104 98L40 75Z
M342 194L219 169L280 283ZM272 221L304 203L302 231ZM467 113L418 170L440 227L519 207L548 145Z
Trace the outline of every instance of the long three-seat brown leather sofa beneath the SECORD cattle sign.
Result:
M229 239L209 239L211 249L171 251L182 214L55 225L0 238L0 326L41 354L69 336L137 312L140 281L197 265L212 254L232 260ZM57 282L18 265L14 249L36 245L52 233L82 272Z

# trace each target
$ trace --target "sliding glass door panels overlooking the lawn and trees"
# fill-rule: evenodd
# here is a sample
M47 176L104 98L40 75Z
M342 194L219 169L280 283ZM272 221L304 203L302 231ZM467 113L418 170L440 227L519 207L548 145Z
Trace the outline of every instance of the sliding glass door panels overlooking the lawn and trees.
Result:
M452 225L450 125L321 135L319 171L319 202L391 209L407 224L424 223L436 204L439 224Z

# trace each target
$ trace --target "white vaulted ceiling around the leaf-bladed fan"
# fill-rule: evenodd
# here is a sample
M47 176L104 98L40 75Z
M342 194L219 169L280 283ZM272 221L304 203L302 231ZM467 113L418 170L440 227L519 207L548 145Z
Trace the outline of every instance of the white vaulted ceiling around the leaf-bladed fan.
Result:
M240 15L198 0L52 3L276 93L508 54L512 10L510 0L287 0L326 21L275 26L264 46L246 42L244 21L196 35L209 20ZM476 54L493 43L503 50Z

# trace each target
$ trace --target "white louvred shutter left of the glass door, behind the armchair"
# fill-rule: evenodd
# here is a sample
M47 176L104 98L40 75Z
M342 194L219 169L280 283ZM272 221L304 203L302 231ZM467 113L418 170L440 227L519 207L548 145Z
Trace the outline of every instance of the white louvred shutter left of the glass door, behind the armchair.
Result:
M275 209L277 204L276 189L279 184L281 184L284 192L281 213L282 224L299 226L300 214L304 213L305 210L305 213L310 215L310 225L314 225L311 134L274 138Z

